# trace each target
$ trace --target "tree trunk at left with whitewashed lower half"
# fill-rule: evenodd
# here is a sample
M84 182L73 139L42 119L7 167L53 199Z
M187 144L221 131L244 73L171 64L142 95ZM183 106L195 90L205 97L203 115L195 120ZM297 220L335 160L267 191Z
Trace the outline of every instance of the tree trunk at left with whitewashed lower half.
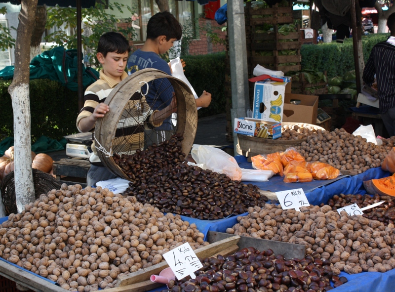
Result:
M22 0L15 42L14 78L8 87L14 114L15 197L18 212L35 201L29 101L30 40L38 0Z

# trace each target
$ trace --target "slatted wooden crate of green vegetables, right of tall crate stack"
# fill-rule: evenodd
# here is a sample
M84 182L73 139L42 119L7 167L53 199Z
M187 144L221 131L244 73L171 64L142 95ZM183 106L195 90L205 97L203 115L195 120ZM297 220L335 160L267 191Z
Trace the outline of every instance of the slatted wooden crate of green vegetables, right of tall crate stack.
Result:
M322 73L320 73L322 74ZM326 78L326 71L323 72ZM292 77L292 93L296 94L307 94L307 95L319 95L328 93L328 82L323 79L313 81L314 83L309 83L305 77L305 73L298 73L298 75Z

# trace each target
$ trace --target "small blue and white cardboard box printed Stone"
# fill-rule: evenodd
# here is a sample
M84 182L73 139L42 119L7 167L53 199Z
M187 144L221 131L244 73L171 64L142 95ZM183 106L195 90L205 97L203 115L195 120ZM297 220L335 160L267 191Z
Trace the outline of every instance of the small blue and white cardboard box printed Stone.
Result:
M277 139L281 137L281 123L250 118L236 118L234 132L258 138Z

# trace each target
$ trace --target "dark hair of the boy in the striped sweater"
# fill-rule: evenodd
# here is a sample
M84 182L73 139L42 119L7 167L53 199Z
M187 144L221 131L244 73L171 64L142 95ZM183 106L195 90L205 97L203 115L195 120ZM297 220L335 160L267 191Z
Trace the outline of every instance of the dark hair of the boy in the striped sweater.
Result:
M123 54L124 52L130 52L129 42L120 33L109 32L103 34L99 39L97 45L97 52L102 53L105 57L107 53Z

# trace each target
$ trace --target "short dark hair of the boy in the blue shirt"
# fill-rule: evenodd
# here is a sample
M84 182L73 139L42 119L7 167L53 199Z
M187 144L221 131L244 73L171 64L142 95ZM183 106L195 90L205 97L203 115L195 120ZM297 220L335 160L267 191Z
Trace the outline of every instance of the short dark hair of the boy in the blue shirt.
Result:
M166 41L170 39L181 40L181 25L174 15L168 11L158 12L148 21L147 39L155 40L159 36L166 36Z

